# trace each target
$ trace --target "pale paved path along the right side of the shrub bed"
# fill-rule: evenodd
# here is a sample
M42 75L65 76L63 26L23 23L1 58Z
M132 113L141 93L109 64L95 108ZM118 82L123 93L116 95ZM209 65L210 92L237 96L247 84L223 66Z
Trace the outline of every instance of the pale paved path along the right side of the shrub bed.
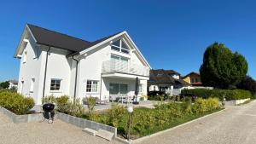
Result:
M256 144L256 101L183 125L143 144Z

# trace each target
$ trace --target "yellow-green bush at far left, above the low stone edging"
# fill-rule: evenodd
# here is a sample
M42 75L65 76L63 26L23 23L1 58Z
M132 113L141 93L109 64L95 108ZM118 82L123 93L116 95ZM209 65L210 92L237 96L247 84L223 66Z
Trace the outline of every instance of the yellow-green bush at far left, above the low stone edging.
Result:
M5 107L11 112L16 114L26 114L35 103L32 98L24 97L15 92L10 92L9 90L0 91L0 106Z

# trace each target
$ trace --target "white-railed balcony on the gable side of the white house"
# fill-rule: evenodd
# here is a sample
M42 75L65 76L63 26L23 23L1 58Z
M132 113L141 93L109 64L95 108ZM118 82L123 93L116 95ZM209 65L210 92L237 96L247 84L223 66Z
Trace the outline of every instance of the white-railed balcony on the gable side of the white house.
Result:
M102 73L103 74L129 74L134 76L149 77L149 67L141 66L137 64L128 64L127 61L123 60L107 60L102 62Z

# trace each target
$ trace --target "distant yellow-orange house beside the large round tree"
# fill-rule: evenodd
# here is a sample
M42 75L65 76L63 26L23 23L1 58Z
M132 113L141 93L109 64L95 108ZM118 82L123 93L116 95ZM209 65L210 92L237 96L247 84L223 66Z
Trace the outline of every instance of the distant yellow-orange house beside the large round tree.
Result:
M193 86L202 86L200 74L197 72L190 72L183 77L183 80Z

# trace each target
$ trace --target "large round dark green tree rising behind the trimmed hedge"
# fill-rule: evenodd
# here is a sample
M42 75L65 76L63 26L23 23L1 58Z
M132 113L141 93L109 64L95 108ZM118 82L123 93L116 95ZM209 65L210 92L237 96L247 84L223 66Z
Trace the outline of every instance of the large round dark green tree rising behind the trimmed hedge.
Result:
M205 51L200 67L201 81L205 86L219 89L235 89L246 77L247 60L222 43L213 43Z

